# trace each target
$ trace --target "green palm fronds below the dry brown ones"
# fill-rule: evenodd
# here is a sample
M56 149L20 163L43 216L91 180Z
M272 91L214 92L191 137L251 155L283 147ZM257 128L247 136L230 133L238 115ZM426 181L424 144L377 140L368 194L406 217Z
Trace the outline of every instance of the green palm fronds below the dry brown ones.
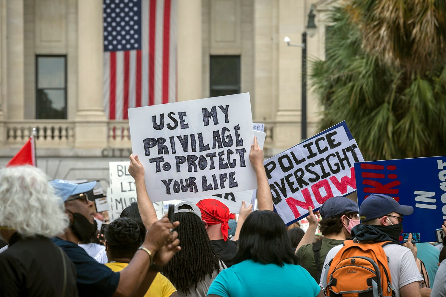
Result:
M311 66L310 79L324 106L321 130L345 120L366 160L445 155L445 62L408 65L409 58L393 59L384 45L373 49L371 41L365 41L372 40L370 34L364 37L365 22L359 25L355 3L360 1L333 10L326 61ZM363 2L372 7L378 1Z

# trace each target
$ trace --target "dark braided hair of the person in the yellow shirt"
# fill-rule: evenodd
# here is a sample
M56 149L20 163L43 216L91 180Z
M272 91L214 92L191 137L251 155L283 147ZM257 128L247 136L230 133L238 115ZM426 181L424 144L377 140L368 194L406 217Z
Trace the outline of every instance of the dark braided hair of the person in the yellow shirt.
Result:
M104 236L113 257L131 259L144 242L145 233L141 220L118 218L107 225Z

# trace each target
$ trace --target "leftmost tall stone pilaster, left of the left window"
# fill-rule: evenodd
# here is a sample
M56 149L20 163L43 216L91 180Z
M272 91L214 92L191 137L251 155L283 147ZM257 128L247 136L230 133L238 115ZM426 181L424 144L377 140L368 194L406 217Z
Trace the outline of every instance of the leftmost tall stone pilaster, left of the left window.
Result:
M2 2L3 4L3 2ZM6 117L23 120L24 76L24 6L23 0L6 1ZM3 7L3 5L2 5Z

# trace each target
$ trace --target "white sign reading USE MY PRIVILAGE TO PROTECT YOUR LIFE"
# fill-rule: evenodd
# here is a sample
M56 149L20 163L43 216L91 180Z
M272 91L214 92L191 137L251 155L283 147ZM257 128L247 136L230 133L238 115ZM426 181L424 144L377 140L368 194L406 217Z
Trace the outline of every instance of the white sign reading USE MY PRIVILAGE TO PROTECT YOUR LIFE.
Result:
M153 202L257 188L249 93L128 109Z

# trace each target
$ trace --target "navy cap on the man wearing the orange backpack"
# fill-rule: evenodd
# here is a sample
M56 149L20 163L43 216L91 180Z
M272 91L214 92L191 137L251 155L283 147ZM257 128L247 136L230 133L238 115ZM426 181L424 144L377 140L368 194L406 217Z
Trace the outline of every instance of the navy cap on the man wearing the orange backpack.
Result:
M361 203L359 207L359 219L361 222L367 222L388 215L391 212L409 216L413 213L413 207L400 205L400 203L389 195L372 194Z

